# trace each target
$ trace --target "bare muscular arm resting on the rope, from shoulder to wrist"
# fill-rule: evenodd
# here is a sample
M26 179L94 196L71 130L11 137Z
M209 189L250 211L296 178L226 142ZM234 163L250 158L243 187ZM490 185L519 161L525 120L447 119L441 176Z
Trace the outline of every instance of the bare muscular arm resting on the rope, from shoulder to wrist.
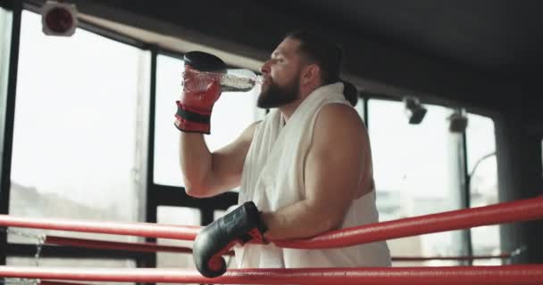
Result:
M308 238L338 229L351 201L361 194L357 190L364 183L368 143L355 110L338 104L324 107L315 122L313 145L305 161L305 199L263 213L269 228L265 238Z

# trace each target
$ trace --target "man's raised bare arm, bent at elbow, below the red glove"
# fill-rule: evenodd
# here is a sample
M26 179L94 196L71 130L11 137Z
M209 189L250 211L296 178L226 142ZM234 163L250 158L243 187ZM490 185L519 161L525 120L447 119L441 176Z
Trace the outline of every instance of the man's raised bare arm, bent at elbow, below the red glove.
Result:
M194 197L211 197L239 185L246 153L258 122L248 126L234 142L211 153L204 135L180 134L180 164L185 190Z

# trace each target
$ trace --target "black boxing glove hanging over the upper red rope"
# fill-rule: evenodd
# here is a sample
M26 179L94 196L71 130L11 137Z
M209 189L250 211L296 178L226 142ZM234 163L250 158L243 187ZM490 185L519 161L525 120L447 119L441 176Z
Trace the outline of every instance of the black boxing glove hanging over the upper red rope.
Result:
M196 269L207 278L221 276L226 272L222 255L237 243L265 243L263 233L267 230L255 203L244 203L198 233L192 248Z

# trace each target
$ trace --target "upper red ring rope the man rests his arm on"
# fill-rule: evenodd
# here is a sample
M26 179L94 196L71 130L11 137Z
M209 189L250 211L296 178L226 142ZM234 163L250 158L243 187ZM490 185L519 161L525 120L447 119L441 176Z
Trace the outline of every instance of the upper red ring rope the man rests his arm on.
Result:
M543 196L480 208L468 208L396 221L366 224L327 232L310 240L272 240L282 248L341 248L431 232L453 231L473 226L519 222L543 217ZM98 232L155 238L194 240L198 226L148 223L104 223L61 219L21 218L0 215L0 225L73 232Z

